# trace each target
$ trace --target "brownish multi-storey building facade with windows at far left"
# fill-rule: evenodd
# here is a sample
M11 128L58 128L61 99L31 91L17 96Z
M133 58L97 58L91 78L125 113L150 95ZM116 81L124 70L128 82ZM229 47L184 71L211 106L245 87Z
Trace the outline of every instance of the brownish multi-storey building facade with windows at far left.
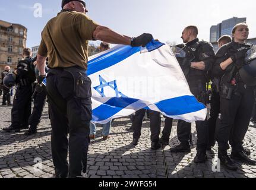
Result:
M21 24L0 20L0 72L9 65L13 70L22 59L26 47L27 29Z

